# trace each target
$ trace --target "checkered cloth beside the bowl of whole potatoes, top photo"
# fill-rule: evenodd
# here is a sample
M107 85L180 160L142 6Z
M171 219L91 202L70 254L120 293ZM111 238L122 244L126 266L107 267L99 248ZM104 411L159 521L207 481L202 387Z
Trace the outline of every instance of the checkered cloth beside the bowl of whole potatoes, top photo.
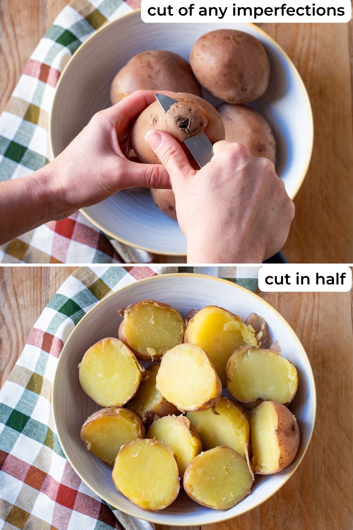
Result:
M49 162L48 119L62 69L90 34L139 4L140 0L74 0L57 16L0 116L0 181L28 175ZM151 261L150 254L112 240L79 212L0 246L3 263Z

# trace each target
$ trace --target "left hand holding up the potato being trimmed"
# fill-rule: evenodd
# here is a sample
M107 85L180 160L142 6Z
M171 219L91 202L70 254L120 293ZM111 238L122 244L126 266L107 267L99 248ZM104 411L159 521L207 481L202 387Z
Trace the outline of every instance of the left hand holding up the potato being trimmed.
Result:
M58 209L56 218L101 202L122 189L170 188L164 166L127 158L131 126L153 101L153 91L139 90L97 112L66 149L43 168L54 188L51 193Z

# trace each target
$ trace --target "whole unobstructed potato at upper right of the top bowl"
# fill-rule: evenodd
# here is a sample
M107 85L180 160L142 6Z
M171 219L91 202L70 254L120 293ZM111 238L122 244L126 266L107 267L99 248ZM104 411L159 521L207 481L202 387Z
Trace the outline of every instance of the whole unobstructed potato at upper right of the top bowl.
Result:
M270 63L265 48L242 31L206 33L192 47L190 64L197 81L227 103L254 101L268 86Z

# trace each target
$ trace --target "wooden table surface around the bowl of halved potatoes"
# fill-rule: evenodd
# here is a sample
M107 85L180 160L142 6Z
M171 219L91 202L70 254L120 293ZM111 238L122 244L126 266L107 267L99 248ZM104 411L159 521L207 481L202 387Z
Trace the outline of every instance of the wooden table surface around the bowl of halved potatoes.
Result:
M0 268L0 386L20 355L35 319L75 269ZM310 358L318 398L314 434L300 467L263 505L225 523L191 528L351 530L352 293L263 293L260 296L293 326ZM157 530L168 528L171 527L157 525Z

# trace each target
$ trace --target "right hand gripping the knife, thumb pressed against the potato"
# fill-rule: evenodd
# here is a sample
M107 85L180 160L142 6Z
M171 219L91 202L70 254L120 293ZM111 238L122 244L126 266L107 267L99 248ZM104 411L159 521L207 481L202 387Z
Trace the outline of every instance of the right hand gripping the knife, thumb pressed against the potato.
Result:
M169 173L189 263L261 263L282 248L294 204L272 162L223 140L195 171L167 133L145 138Z

